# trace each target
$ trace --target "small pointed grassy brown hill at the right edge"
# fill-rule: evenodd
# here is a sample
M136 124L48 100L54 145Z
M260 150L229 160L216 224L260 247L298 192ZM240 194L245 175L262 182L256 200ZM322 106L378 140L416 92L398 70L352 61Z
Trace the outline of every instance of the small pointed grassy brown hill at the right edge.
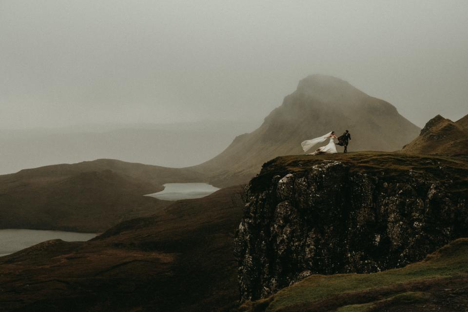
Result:
M435 116L419 136L405 145L404 153L432 155L468 155L468 115L456 122Z

